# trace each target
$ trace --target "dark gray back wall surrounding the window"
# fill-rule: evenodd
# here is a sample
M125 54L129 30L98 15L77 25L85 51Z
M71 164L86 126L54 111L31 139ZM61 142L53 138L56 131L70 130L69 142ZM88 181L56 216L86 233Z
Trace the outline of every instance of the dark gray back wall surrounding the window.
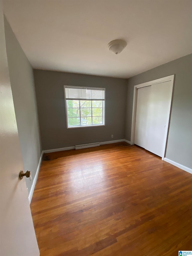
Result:
M34 70L34 78L44 150L124 139L126 79L43 70ZM67 129L64 85L106 88L105 126Z

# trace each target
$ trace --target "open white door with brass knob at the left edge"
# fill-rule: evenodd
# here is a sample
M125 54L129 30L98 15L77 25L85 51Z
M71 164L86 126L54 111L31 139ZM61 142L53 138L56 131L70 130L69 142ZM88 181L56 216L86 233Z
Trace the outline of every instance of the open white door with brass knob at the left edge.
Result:
M39 255L23 170L13 98L9 80L4 36L2 2L0 2L0 255Z

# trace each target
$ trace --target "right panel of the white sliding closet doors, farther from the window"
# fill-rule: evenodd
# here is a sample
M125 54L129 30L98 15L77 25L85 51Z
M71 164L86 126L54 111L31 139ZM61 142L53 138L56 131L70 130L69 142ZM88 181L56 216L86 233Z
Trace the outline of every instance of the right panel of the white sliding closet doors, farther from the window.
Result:
M162 157L172 94L172 82L151 86L147 107L145 149Z

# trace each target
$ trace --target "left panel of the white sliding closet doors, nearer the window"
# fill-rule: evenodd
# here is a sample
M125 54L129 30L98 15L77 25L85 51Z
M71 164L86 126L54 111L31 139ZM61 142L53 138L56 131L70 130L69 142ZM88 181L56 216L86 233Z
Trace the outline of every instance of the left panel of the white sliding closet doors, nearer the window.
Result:
M142 148L146 146L147 104L151 86L137 89L137 109L134 143Z

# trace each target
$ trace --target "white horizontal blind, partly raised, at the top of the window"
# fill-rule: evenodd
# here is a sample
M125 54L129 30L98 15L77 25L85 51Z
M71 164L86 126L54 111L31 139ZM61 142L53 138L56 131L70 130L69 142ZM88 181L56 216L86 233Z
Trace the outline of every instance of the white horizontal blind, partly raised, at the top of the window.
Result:
M65 98L76 100L104 100L105 90L90 88L65 87Z

